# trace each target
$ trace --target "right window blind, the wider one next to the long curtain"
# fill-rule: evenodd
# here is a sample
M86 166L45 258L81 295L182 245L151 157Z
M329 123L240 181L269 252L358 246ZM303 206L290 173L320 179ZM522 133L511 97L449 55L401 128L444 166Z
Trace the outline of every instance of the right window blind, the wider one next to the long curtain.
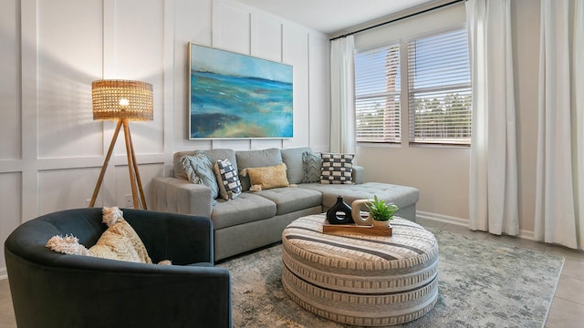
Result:
M466 29L414 38L407 45L410 142L469 145L472 95Z

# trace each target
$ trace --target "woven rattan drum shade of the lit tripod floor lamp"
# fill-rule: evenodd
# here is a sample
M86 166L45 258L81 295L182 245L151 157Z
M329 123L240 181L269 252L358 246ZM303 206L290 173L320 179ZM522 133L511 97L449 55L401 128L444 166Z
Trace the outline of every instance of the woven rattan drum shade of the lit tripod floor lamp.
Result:
M150 83L130 80L97 80L91 83L93 119L152 120Z

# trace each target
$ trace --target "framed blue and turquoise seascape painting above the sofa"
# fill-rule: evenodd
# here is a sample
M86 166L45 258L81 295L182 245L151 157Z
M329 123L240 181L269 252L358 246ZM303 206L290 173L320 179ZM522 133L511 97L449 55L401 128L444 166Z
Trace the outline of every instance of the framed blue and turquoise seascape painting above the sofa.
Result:
M292 66L190 47L190 138L292 138Z

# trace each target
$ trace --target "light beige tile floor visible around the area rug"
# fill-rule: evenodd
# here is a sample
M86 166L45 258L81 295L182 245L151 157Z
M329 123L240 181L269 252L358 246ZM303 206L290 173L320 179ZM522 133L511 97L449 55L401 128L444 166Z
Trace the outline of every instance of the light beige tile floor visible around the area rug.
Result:
M435 220L418 220L424 227L434 227L471 236L477 240L506 243L535 251L542 251L566 258L547 315L546 328L579 328L584 323L584 252L524 239L495 236L486 232L470 231L468 228ZM0 280L0 328L15 328L16 321L7 280Z

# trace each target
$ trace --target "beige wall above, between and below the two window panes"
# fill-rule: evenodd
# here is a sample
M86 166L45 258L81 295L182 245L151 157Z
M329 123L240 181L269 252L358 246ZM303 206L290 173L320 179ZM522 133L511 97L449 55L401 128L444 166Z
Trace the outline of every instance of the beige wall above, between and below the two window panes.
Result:
M381 40L396 42L433 31L464 26L464 3L383 26L355 37L357 49L381 46ZM405 52L401 60L405 59ZM401 71L402 76L407 71ZM404 105L402 113L407 114ZM403 114L402 114L403 115ZM409 145L409 126L401 121L400 145L361 144L357 160L365 167L366 180L403 184L420 190L417 210L432 217L464 221L468 218L468 147Z

